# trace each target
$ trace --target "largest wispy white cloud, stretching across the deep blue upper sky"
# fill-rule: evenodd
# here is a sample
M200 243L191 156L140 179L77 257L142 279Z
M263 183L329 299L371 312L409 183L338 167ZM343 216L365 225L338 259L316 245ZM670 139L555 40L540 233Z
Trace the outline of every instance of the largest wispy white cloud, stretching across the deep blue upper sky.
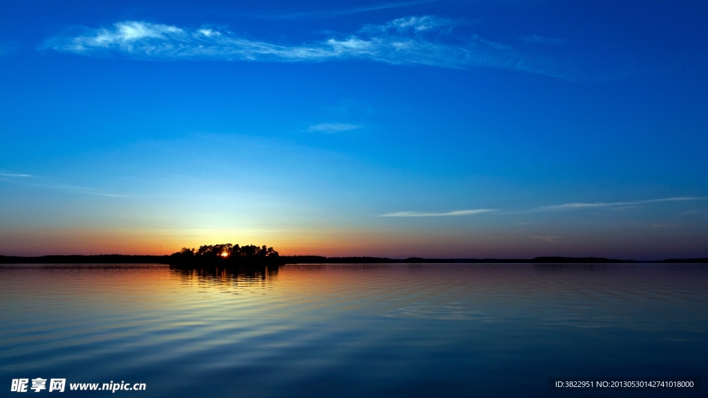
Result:
M89 28L59 35L45 47L90 57L132 59L215 59L256 62L326 62L367 59L387 64L421 64L453 69L497 68L569 78L542 59L477 36L457 38L455 22L435 16L409 16L357 33L330 35L302 45L251 40L221 28L179 28L123 21L110 28Z

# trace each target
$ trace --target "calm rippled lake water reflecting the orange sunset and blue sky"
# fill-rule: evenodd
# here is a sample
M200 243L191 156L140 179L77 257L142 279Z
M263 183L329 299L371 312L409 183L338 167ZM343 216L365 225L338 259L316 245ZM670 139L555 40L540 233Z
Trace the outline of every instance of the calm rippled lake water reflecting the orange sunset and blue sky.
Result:
M548 377L706 380L707 356L704 265L0 266L3 396L566 397Z

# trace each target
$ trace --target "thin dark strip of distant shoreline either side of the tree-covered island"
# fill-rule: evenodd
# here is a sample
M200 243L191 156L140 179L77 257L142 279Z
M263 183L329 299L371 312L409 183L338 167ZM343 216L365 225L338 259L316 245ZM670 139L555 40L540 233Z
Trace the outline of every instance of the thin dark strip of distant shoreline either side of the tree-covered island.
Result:
M169 264L171 256L140 256L126 254L67 255L67 256L0 256L0 264ZM708 263L708 258L667 258L666 260L617 260L602 257L535 257L535 258L385 258L385 257L324 257L280 256L282 264L356 264L356 263Z

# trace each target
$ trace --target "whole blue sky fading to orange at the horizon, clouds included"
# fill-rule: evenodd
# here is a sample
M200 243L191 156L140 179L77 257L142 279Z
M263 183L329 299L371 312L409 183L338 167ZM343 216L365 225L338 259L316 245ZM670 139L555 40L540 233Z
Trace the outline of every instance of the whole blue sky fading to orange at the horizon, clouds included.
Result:
M0 254L708 257L705 1L6 1Z

